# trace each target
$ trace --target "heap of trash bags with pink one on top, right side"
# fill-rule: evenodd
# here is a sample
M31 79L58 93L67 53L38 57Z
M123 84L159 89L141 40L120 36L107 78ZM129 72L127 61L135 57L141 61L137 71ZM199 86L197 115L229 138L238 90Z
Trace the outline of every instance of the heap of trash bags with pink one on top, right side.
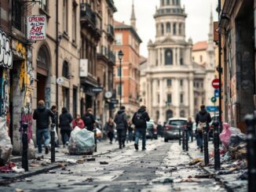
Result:
M230 127L226 122L223 123L223 131L220 134L222 150L225 152L224 160L244 159L247 154L246 136L240 129Z

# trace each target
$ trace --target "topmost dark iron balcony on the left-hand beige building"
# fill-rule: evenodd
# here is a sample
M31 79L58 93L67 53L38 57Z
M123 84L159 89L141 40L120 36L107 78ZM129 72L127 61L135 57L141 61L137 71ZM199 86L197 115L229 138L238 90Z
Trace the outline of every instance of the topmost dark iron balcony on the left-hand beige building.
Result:
M101 38L101 17L91 9L88 3L80 4L81 27L86 28L98 40Z

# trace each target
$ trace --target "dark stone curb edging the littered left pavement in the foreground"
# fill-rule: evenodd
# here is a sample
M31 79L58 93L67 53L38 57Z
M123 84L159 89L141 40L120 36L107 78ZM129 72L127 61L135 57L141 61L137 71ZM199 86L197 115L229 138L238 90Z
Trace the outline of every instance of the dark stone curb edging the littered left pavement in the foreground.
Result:
M68 164L64 164L64 165L53 165L53 166L50 166L48 168L42 168L42 169L39 169L35 172L27 172L27 173L24 173L24 174L21 174L19 176L13 176L13 178L9 178L9 179L1 179L0 180L0 186L6 186L8 185L9 183L13 183L13 181L15 181L16 179L24 179L24 178L27 178L27 177L30 177L30 176L35 176L35 175L38 175L38 174L41 174L43 172L48 172L50 170L53 170L55 168L61 168L63 166L67 166Z

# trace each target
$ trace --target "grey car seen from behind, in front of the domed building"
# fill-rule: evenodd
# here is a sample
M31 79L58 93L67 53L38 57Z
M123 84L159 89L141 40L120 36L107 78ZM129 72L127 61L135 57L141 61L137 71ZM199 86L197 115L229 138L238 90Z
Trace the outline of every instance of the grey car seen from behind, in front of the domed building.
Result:
M187 118L169 118L163 131L164 142L179 139L179 130L185 129L187 122Z

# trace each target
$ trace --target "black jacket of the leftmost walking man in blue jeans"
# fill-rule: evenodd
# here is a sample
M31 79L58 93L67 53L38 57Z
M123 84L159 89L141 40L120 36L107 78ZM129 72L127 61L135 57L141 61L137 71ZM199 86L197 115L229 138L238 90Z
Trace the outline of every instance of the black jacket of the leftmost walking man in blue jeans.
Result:
M55 123L53 111L46 108L46 106L38 106L34 111L33 119L36 120L37 129L48 129L49 118L52 118L52 123Z

